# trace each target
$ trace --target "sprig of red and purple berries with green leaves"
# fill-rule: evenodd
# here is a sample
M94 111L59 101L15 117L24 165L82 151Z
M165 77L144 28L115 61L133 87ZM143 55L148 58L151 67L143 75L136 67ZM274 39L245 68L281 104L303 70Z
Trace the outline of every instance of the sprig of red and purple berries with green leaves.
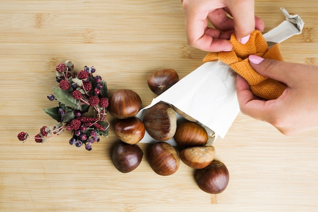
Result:
M58 106L44 109L58 124L53 127L43 126L40 132L30 137L26 132L20 132L18 139L25 142L27 138L33 138L42 143L47 139L60 135L63 131L71 131L71 145L77 147L85 145L91 150L91 144L99 142L101 136L108 137L109 122L107 121L107 85L102 77L93 76L94 67L84 67L77 74L73 74L74 64L67 60L56 66L56 81L54 94L47 98L50 101L57 100ZM90 107L96 112L96 117L83 116Z

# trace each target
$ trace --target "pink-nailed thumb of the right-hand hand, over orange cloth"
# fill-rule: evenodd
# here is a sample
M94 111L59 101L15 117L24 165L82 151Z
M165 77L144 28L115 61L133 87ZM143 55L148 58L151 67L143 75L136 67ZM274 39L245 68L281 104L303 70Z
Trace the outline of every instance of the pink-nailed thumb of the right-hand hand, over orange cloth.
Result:
M282 62L274 59L264 59L257 55L249 55L250 66L259 74L288 84L295 78L299 64Z

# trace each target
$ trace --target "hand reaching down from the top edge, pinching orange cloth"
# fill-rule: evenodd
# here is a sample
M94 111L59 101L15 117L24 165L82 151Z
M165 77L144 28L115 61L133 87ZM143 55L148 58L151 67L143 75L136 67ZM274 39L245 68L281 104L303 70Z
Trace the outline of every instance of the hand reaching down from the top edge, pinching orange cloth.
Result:
M245 44L256 28L264 30L263 21L254 15L254 0L181 0L185 31L190 46L219 52L232 50L228 41L234 32ZM227 16L230 14L232 18ZM208 27L208 20L215 28Z

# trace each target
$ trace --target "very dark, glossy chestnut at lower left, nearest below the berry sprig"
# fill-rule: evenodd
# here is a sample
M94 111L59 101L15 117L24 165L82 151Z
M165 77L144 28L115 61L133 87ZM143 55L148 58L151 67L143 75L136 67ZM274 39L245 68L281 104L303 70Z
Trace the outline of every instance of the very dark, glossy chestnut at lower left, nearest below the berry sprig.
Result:
M143 152L137 144L130 145L118 142L112 150L112 161L116 169L128 173L136 169L141 163Z

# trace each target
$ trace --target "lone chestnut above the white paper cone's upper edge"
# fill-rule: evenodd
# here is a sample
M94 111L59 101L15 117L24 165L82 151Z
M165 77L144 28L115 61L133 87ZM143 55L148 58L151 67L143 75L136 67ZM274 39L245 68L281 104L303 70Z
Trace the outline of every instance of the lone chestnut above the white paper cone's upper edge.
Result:
M162 69L152 73L148 77L148 86L150 90L156 94L161 95L168 88L179 81L178 73L173 69Z

